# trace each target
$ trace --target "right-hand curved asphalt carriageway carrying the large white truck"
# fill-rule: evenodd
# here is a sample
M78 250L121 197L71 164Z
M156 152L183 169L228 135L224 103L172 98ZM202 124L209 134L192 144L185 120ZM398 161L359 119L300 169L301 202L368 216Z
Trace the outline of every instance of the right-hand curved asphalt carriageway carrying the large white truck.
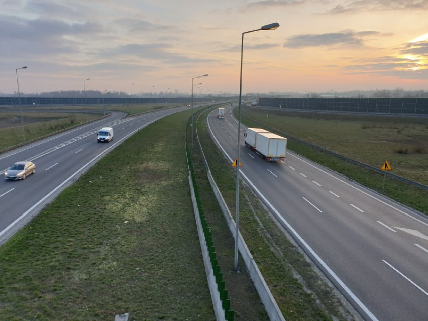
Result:
M208 116L232 163L238 123ZM287 151L268 162L244 145L240 175L367 320L428 320L428 218Z

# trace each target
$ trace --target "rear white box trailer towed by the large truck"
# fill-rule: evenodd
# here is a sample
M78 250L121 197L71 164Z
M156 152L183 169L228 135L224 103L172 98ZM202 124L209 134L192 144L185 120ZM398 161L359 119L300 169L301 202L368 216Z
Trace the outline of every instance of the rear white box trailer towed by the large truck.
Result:
M255 150L267 160L284 160L287 139L273 133L256 133Z

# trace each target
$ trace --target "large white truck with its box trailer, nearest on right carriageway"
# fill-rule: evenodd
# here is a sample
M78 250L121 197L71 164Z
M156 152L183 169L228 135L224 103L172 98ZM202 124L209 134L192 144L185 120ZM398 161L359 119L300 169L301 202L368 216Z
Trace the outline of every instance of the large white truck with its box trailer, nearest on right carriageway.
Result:
M262 128L248 128L245 145L268 161L284 161L287 139Z

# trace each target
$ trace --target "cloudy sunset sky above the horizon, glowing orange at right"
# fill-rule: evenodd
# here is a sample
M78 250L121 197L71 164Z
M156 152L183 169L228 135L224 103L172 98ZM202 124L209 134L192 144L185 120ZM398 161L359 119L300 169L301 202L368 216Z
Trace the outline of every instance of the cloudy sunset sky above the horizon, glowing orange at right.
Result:
M0 0L0 93L428 90L428 0ZM204 89L199 89L204 90Z

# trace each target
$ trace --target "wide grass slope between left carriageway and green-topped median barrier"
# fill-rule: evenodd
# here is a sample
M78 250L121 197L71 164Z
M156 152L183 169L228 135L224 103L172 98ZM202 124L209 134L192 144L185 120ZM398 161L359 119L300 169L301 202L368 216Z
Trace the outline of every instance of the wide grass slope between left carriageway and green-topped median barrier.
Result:
M215 319L187 179L188 118L136 133L0 248L0 318Z

